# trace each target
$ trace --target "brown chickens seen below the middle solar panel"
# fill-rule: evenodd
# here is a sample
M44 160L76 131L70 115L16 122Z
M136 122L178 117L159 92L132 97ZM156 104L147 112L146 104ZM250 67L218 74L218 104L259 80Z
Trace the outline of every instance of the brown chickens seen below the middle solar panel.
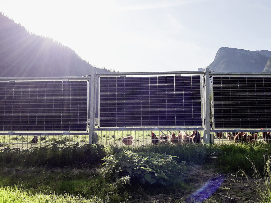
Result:
M187 132L180 131L178 135L175 133L167 134L167 135L160 135L159 137L156 136L154 132L151 133L151 142L156 144L167 144L169 140L172 144L178 143L200 143L201 137L200 133L197 130L194 130L191 135L188 135ZM133 136L128 136L122 138L122 142L124 145L132 145L133 144Z

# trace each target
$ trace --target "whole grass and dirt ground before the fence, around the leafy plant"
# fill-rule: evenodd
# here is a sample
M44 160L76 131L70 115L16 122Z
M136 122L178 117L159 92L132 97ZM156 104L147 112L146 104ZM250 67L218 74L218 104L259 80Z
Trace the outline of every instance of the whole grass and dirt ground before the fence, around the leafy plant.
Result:
M179 164L185 161L186 167L173 171L166 186L131 183L116 187L114 179L103 176L102 158L125 150L176 156L174 160ZM7 147L0 150L0 203L184 203L218 174L225 181L201 202L267 203L271 196L270 155L271 147L266 142L146 146L54 142L30 149ZM129 162L125 158L119 163L128 167ZM155 166L155 162L152 164ZM170 167L163 170L170 172Z

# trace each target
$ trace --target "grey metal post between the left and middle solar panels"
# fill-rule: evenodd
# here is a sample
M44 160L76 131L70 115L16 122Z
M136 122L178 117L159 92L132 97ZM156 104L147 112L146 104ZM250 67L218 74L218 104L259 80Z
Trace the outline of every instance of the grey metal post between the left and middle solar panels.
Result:
M95 85L96 73L94 68L91 69L90 89L89 89L89 118L90 118L90 131L89 131L89 144L93 143L93 133L95 128Z

